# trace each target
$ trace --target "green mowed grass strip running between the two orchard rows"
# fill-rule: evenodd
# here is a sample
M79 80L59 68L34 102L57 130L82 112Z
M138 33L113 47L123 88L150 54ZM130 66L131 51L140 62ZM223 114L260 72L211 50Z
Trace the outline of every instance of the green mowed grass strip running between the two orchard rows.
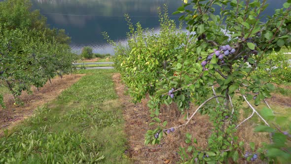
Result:
M0 138L0 164L130 164L113 70L81 80Z

